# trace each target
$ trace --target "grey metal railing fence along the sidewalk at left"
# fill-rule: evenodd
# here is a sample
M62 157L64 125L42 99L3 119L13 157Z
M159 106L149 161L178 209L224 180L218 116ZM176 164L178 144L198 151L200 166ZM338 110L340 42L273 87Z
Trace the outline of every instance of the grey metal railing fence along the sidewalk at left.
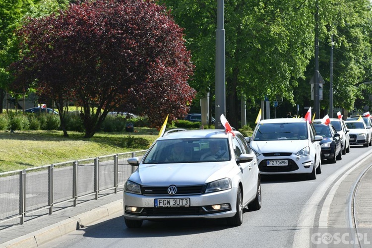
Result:
M67 161L0 173L0 222L53 208L67 201L106 190L117 193L134 169L126 160L142 158L147 150Z

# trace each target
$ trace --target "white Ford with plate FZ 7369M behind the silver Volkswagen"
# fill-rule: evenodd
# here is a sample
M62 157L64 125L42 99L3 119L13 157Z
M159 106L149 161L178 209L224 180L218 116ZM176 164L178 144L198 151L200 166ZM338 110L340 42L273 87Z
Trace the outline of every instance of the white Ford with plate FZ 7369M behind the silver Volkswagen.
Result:
M323 138L304 118L262 120L246 139L262 175L302 173L313 180L321 173Z

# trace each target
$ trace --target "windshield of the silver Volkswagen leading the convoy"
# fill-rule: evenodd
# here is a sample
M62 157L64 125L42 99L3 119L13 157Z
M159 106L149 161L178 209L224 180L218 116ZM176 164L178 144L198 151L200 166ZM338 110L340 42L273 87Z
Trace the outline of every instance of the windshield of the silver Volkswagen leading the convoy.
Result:
M143 164L229 161L228 138L185 138L158 140Z

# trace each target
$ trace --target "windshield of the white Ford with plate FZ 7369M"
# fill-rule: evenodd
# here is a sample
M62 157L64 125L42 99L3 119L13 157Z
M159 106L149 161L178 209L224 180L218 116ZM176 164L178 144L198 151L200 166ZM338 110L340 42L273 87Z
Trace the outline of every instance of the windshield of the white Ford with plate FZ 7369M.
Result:
M253 140L296 140L307 138L308 131L306 123L265 123L257 126Z

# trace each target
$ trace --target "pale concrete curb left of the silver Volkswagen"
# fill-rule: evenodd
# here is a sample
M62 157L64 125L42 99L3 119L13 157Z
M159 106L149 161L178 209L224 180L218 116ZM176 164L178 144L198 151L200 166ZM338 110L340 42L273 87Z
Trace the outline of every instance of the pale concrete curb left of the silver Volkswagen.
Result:
M123 211L123 199L63 220L49 227L0 244L0 248L36 248L63 235Z

